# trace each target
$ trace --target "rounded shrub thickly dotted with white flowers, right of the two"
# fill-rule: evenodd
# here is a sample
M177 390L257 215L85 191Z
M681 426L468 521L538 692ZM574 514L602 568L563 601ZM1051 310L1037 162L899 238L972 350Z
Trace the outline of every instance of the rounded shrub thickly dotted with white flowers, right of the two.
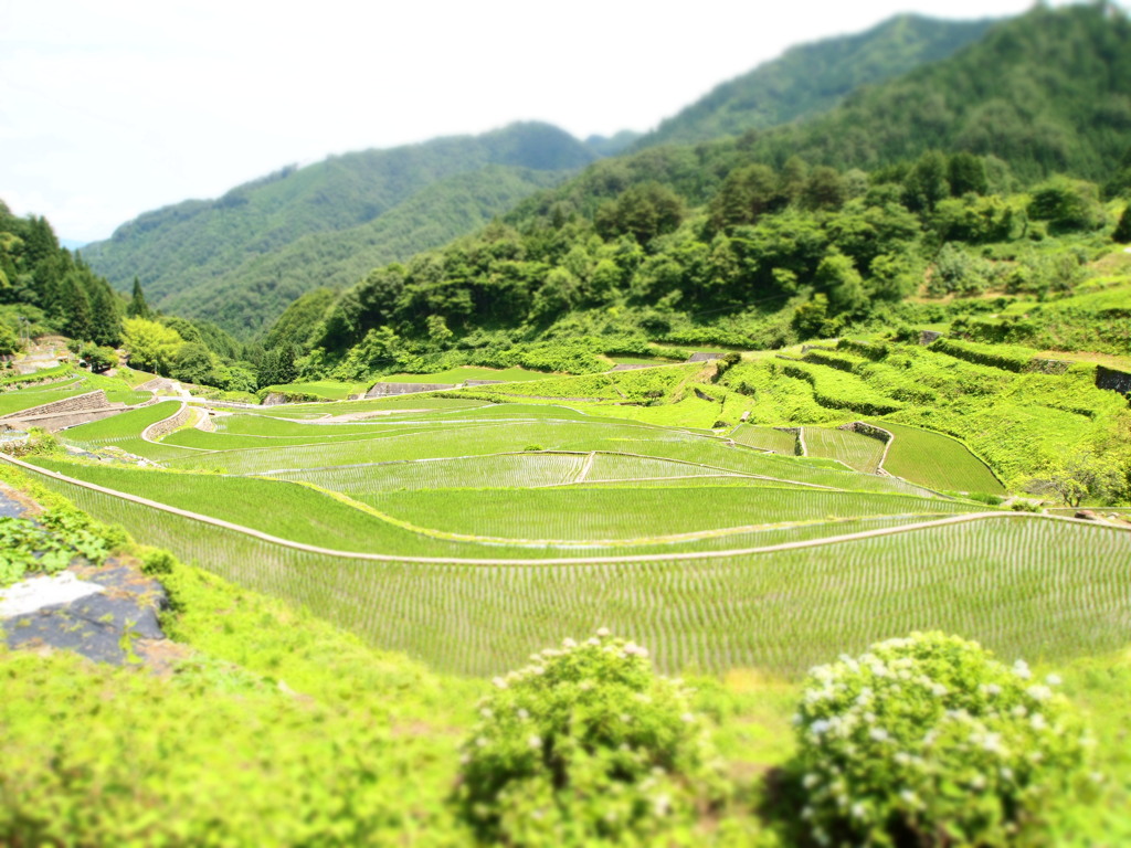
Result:
M821 845L1013 843L1083 763L1059 683L942 633L812 669L796 717L802 819Z

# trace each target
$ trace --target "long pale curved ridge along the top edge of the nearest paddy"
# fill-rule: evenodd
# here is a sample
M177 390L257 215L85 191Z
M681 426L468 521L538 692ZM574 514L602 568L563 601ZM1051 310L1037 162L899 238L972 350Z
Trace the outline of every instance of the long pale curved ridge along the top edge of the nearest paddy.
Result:
M74 477L68 477L67 475L59 474L58 471L49 471L45 468L40 468L37 466L31 465L29 462L24 462L23 460L16 459L14 457L8 457L0 455L0 459L7 462L19 466L25 471L34 474L41 477L48 477L61 483L66 483L71 486L78 486L79 488L86 488L93 492L98 492L104 495L110 495L111 497L116 497L121 501L128 501L131 503L146 507L148 509L159 510L162 512L167 512L170 514L180 516L181 518L188 518L193 521L199 521L201 523L211 525L214 527L221 527L226 530L234 530L235 533L250 536L262 542L268 542L274 545L280 545L283 547L288 547L295 551L305 551L308 553L321 554L323 556L344 557L349 560L368 560L371 562L404 562L404 563L420 563L420 564L431 564L431 565L608 565L613 563L649 563L649 562L688 562L694 560L709 560L717 559L720 556L746 556L751 554L766 554L779 551L796 551L801 548L809 547L823 547L826 545L837 545L845 542L855 542L858 539L874 538L877 536L889 536L895 534L910 533L914 530L922 530L929 527L946 527L948 525L965 523L968 521L979 521L979 520L992 520L1002 518L1021 518L1021 520L1036 520L1036 521L1067 521L1074 525L1085 525L1094 527L1095 522L1087 521L1083 519L1069 518L1067 516L1041 516L1033 513L1017 513L1017 512L1005 512L1005 511L994 511L994 512L968 512L959 516L953 516L950 518L943 518L935 521L921 521L917 523L903 525L900 527L886 527L877 530L864 530L863 533L845 534L841 536L826 536L815 539L802 539L800 542L784 542L777 545L766 545L761 547L744 547L734 548L731 551L694 551L684 552L675 554L647 554L638 556L589 556L589 557L555 557L555 559L544 559L544 560L523 560L523 559L457 559L457 557L440 557L440 556L400 556L390 554L371 554L371 553L359 553L354 551L337 551L328 547L320 547L318 545L308 545L302 542L292 542L291 539L284 539L278 536L271 536L270 534L262 533L260 530L252 529L251 527L244 527L242 525L235 525L230 521L224 521L219 518L213 518L210 516L204 516L198 512L190 512L188 510L182 510L176 507L170 507L158 501L150 501L146 497L138 497L137 495L131 495L126 492L118 492L113 488L106 488L104 486L96 485L94 483L87 483L86 481L76 479ZM344 496L344 495L343 495ZM352 500L352 499L349 499ZM1131 527L1128 528L1112 528L1116 531L1131 533Z

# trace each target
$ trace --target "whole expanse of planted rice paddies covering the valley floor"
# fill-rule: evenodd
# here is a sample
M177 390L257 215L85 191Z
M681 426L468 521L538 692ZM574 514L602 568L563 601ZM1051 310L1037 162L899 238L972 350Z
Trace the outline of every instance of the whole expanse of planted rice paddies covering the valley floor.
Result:
M787 676L915 629L1055 659L1119 648L1131 628L1131 531L924 488L984 492L988 471L914 427L884 425L908 482L834 467L874 470L882 442L856 433L806 427L818 460L735 438L761 427L549 405L273 407L141 438L179 408L66 434L165 470L41 457L31 473L146 543L444 670L497 674L547 633L598 626L667 670ZM374 409L389 414L348 417Z

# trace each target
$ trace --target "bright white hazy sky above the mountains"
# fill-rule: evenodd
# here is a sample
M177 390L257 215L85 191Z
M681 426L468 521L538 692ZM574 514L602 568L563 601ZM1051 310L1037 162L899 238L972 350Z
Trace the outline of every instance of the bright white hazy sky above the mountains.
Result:
M331 153L647 130L786 47L1031 0L0 0L0 199L64 239Z

